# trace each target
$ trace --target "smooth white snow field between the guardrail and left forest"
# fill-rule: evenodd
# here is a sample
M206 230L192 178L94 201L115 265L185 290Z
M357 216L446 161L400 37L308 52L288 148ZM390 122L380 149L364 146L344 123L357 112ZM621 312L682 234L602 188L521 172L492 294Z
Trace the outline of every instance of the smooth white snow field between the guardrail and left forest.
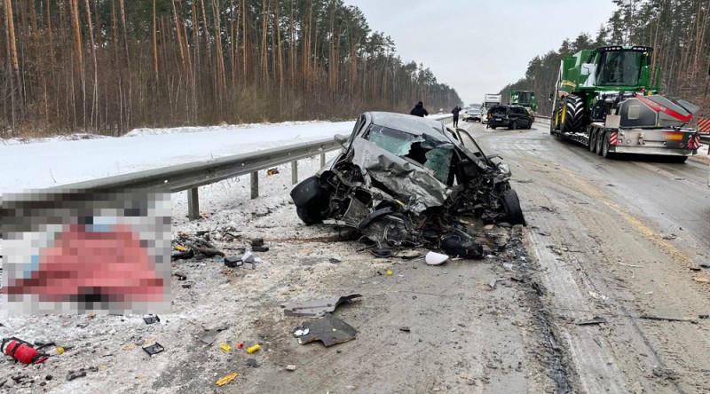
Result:
M432 119L446 114L431 115ZM282 122L136 129L120 138L74 134L0 139L0 194L350 134L354 122Z

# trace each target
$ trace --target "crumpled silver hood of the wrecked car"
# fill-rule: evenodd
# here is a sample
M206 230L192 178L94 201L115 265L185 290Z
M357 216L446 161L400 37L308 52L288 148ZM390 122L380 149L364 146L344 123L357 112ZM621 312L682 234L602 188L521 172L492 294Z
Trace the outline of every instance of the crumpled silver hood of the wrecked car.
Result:
M352 163L363 171L363 175L369 175L392 192L399 193L400 197L407 196L408 200L402 202L415 213L420 214L430 207L442 206L448 198L446 185L426 169L390 154L362 138L355 138L352 150Z

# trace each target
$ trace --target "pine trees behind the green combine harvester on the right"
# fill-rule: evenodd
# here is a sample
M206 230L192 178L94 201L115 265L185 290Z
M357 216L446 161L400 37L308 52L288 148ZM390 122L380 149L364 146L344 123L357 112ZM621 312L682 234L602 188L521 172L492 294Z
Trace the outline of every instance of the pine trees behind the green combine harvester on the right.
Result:
M555 90L560 61L577 51L611 44L654 48L652 67L660 70L661 93L682 98L710 116L710 0L615 0L617 10L595 36L565 39L556 51L530 61L525 77L501 91L535 91L538 112L552 112L549 94ZM655 74L651 74L655 75Z

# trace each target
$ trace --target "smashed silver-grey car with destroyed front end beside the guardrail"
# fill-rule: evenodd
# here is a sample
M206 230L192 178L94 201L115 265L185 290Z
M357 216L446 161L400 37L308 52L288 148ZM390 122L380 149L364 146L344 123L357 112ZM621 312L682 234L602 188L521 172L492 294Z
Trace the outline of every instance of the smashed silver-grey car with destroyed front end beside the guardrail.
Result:
M291 191L306 225L355 229L378 250L426 246L468 258L482 247L463 217L525 225L508 165L493 162L466 130L367 112L350 137L335 140L341 153Z

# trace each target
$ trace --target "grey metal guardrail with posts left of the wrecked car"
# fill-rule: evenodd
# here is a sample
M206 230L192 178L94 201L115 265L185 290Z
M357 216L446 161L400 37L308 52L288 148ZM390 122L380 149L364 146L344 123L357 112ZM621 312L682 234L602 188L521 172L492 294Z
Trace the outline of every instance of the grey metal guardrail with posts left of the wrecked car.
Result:
M120 190L149 189L166 193L187 193L188 217L200 217L200 203L197 189L232 177L251 175L251 198L259 196L258 171L279 164L291 162L291 182L298 183L298 160L320 154L320 164L326 163L326 152L341 146L334 138L324 138L312 142L283 146L248 154L235 154L206 162L191 162L161 169L147 169L130 174L104 177L70 185L52 187L60 190Z

